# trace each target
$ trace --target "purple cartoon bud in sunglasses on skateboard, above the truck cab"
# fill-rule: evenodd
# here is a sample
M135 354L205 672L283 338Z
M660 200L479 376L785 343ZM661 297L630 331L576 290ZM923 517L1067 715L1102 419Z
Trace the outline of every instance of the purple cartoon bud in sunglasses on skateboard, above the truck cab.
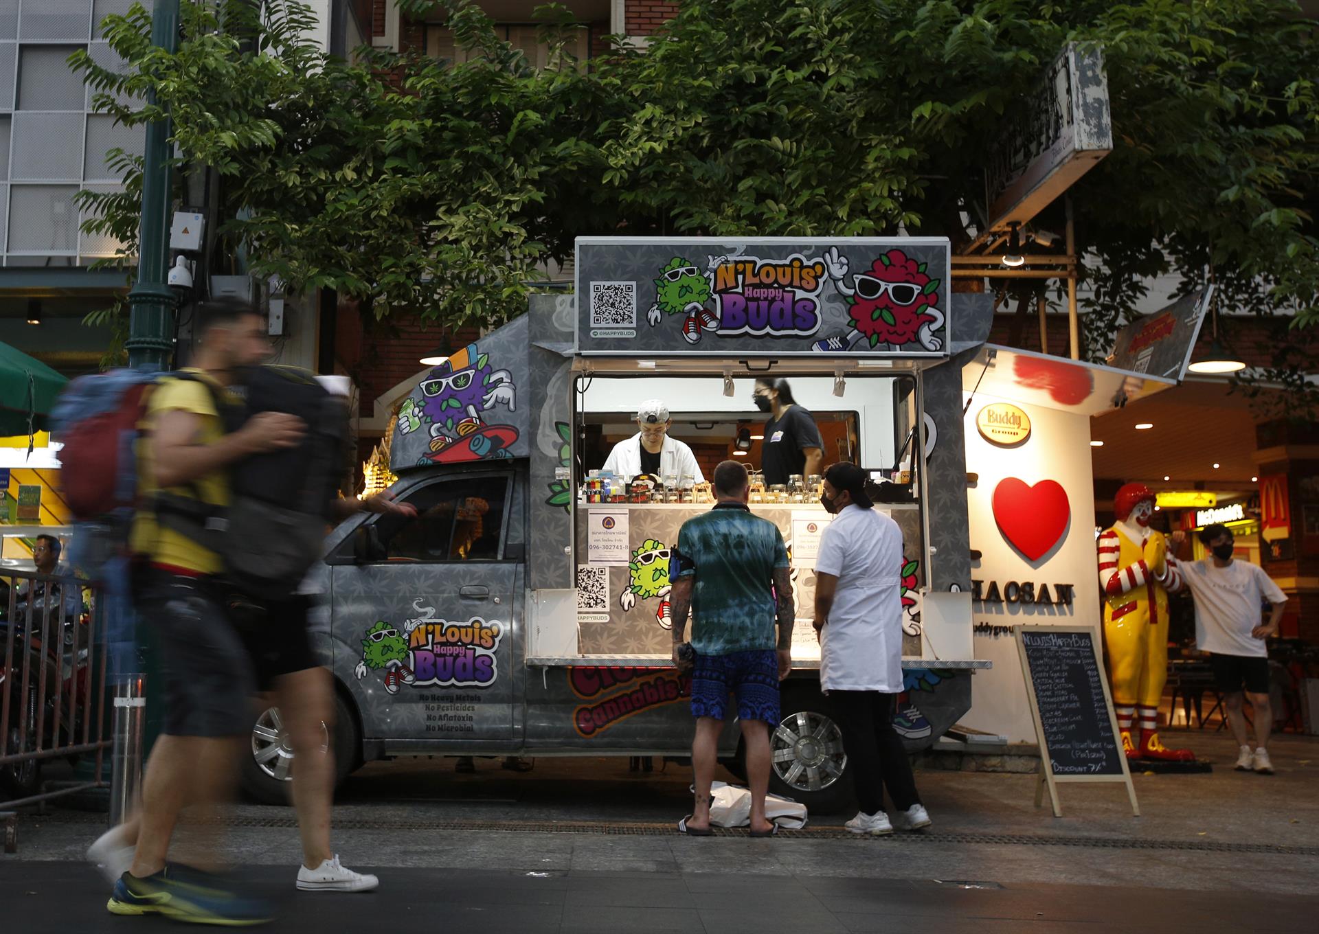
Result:
M426 429L430 452L419 463L452 463L506 458L517 441L512 425L499 425L496 409L517 410L517 388L506 369L495 369L489 355L468 344L441 361L398 409L398 430Z

